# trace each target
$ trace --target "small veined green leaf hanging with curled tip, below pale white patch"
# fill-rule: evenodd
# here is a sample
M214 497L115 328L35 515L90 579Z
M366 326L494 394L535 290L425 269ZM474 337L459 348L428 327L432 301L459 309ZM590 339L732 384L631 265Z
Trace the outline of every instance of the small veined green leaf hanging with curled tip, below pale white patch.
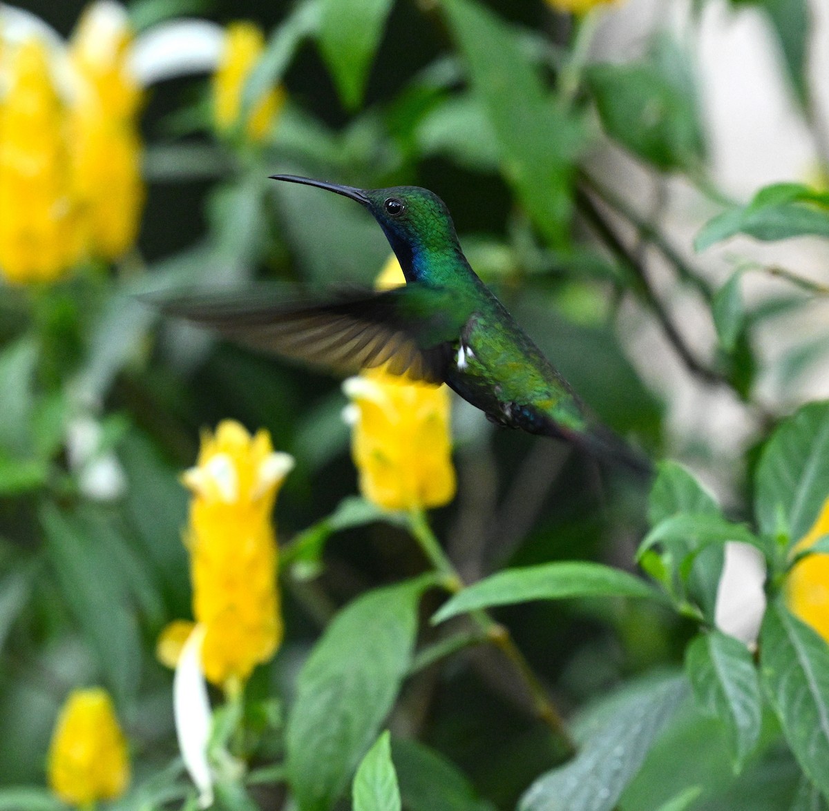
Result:
M712 630L686 650L686 673L701 712L725 724L734 767L742 769L760 735L763 698L749 649Z

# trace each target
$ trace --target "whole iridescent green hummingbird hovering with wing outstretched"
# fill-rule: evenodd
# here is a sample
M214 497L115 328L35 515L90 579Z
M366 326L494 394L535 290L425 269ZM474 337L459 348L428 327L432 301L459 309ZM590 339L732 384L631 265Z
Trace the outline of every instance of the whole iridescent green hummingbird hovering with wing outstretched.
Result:
M478 278L434 192L358 189L295 175L271 179L332 191L369 210L406 284L327 302L184 296L162 302L163 311L256 350L341 374L385 364L391 374L445 383L499 426L557 437L650 471L646 459L589 418L570 384Z

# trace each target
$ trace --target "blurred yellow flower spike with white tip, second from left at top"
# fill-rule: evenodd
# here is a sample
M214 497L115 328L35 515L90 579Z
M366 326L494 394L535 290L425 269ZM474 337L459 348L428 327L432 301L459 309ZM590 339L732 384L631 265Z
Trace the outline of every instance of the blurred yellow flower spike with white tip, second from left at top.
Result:
M78 72L70 110L73 191L90 253L118 258L138 236L144 200L137 115L142 99L126 66L128 18L114 2L96 2L70 45Z

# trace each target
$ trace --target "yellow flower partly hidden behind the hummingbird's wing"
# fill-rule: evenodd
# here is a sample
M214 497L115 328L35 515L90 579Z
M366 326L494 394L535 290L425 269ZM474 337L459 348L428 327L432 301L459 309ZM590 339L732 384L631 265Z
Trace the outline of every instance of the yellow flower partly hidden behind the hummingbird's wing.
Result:
M376 284L388 289L404 281L392 256ZM343 390L351 398L351 454L362 495L384 509L448 504L455 495L448 388L381 367L347 379Z

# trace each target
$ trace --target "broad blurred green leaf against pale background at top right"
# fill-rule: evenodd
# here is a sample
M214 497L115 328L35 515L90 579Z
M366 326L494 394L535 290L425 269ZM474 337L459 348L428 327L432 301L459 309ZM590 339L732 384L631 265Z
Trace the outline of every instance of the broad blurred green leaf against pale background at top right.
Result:
M662 171L699 166L705 156L688 65L688 56L662 36L645 61L594 65L587 73L605 132Z

